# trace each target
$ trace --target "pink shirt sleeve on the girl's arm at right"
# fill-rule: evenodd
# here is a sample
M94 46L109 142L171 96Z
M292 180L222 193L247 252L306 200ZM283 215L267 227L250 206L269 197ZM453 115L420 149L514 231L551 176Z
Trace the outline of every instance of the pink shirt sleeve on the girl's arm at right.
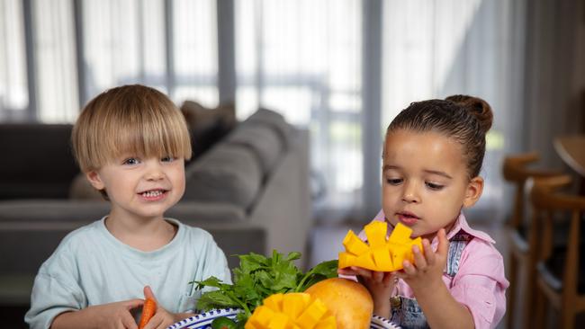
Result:
M494 328L506 312L509 282L500 253L488 243L475 240L467 246L471 251L462 255L451 294L470 310L475 328Z

